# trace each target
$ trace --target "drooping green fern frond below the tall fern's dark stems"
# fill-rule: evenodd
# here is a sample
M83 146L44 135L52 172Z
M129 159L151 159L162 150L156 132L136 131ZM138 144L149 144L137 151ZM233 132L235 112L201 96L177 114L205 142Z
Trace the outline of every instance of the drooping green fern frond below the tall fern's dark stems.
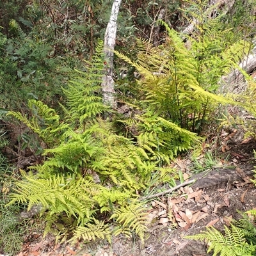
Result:
M135 121L134 121L135 120ZM134 120L123 121L128 127L136 125L140 134L136 136L139 148L147 154L150 161L168 163L178 153L195 147L200 138L195 133L153 114L136 115Z

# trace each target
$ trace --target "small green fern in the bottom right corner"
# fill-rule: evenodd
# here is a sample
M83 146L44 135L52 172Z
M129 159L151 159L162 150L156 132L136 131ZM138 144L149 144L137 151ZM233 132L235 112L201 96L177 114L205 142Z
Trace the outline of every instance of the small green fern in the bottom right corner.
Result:
M231 225L225 227L225 236L215 228L207 228L207 231L195 236L186 236L186 239L195 239L209 243L207 253L213 250L213 256L250 256L255 255L256 246L246 242L243 228Z

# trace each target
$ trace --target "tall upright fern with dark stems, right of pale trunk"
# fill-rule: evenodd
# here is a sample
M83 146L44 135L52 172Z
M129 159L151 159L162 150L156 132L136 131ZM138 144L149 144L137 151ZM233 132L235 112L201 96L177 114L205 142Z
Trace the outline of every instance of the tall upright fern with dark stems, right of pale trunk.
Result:
M198 15L199 18L202 19L202 15ZM182 35L161 22L169 35L166 44L148 47L140 42L138 61L116 52L143 77L138 84L145 93L144 108L146 104L147 110L193 132L200 132L216 102L234 104L231 98L216 95L218 82L248 52L248 44L243 42L225 43L223 36L231 31L216 29L221 17L204 19L198 35L187 36L189 47Z

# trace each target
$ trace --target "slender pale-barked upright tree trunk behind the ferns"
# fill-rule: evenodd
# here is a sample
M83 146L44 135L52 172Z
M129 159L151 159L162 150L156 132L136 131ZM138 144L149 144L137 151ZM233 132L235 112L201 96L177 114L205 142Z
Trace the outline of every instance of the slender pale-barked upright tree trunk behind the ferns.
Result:
M102 93L104 104L115 107L115 82L113 79L113 58L116 43L116 20L122 0L114 0L111 15L104 38L104 54L106 73L102 78Z

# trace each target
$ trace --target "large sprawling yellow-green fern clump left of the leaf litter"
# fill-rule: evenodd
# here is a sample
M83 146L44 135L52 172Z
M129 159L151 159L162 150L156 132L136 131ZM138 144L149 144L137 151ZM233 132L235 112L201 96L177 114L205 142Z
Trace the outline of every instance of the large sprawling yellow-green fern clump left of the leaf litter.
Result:
M44 163L29 168L32 172L22 172L8 205L22 203L28 210L42 205L45 234L51 231L63 239L67 234L72 234L72 241L109 239L121 232L143 239L146 209L138 195L152 184L154 173L161 173L158 184L171 179L175 173L165 164L198 143L198 138L150 111L136 118L137 140L123 136L108 118L102 118L109 109L100 94L101 46L85 68L63 88L67 97L67 106L61 105L64 118L34 99L29 100L31 116L8 113L38 135L45 157ZM102 218L113 220L113 228Z

